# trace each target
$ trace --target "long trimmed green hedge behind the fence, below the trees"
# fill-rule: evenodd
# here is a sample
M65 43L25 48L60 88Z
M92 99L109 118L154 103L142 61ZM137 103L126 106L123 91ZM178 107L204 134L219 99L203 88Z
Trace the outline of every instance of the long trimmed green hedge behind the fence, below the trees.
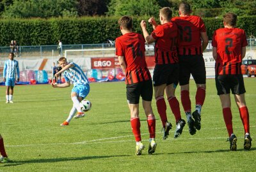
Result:
M140 21L148 17L134 17L134 31L141 33ZM11 40L19 45L56 45L61 39L65 45L104 43L121 35L118 17L40 18L0 20L0 47L9 46ZM204 18L209 39L213 32L223 27L221 18ZM250 36L256 36L256 20L239 17L237 27ZM152 27L148 25L148 32Z

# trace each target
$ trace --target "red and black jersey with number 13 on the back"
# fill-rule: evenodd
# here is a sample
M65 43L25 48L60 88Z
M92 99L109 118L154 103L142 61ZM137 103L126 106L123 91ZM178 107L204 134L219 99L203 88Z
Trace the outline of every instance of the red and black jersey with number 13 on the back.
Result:
M202 18L190 15L186 17L173 17L172 21L178 27L178 54L179 55L200 55L202 41L200 32L206 32Z

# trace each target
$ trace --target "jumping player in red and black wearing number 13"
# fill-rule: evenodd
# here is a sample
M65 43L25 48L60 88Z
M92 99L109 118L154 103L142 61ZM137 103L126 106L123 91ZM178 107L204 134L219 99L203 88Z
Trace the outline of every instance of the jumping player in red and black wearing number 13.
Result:
M203 52L208 45L208 37L203 20L191 14L188 3L180 3L179 16L172 18L178 26L177 41L180 73L180 98L186 113L189 133L196 133L201 129L201 110L205 100L206 71ZM196 83L195 111L191 114L191 101L189 98L189 78L193 76ZM193 116L193 118L192 118Z

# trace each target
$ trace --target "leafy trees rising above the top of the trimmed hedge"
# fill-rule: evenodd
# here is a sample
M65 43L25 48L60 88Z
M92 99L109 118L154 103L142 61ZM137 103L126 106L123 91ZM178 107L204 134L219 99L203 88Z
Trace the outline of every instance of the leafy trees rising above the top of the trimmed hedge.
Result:
M193 13L201 17L221 16L233 11L239 16L256 15L252 0L186 0ZM2 0L0 17L81 17L95 15L155 16L159 8L170 6L177 14L181 0Z

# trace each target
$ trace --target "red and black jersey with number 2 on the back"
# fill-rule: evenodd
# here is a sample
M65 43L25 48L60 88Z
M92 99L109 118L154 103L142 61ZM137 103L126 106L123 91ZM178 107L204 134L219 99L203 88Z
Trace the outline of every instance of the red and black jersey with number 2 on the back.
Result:
M241 74L241 50L248 45L246 34L239 28L217 29L212 36L212 47L216 47L216 75Z

